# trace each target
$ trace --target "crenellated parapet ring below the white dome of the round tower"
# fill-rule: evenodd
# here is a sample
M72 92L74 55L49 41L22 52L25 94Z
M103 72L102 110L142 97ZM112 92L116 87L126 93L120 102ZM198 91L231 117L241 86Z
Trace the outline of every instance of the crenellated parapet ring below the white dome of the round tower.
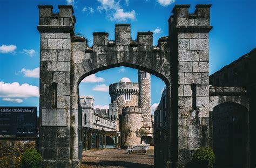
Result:
M109 86L109 94L120 95L120 94L139 94L139 84L133 82L113 83Z

